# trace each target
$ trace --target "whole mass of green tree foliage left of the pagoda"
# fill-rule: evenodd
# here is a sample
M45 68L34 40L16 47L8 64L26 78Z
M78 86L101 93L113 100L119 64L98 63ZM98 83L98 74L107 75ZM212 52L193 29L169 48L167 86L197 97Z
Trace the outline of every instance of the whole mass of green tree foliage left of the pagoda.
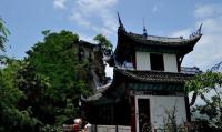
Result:
M2 20L0 33L3 51L9 31ZM80 113L80 97L91 92L90 62L78 60L78 34L50 30L42 34L43 41L23 60L0 58L0 131L61 131L65 121ZM111 44L103 39L98 41L108 52Z

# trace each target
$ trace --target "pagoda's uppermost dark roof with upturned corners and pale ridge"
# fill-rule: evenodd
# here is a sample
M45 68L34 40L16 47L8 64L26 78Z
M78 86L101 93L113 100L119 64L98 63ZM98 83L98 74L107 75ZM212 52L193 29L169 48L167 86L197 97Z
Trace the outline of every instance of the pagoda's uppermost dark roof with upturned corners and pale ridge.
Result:
M121 54L131 49L145 52L175 53L183 57L191 52L201 39L201 27L202 24L189 39L184 39L183 37L170 38L127 32L124 27L121 26L118 29L118 44L114 53Z

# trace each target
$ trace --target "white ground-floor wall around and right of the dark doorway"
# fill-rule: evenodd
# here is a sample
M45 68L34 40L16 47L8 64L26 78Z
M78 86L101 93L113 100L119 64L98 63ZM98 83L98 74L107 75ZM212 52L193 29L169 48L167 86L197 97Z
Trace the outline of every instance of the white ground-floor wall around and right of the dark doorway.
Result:
M138 113L138 99L150 99L150 115L151 123L154 128L161 128L163 118L167 118L165 111L172 111L175 106L176 124L186 121L185 101L184 97L167 97L167 95L137 95L135 97L135 115ZM138 122L138 118L137 118ZM137 124L137 129L138 124Z

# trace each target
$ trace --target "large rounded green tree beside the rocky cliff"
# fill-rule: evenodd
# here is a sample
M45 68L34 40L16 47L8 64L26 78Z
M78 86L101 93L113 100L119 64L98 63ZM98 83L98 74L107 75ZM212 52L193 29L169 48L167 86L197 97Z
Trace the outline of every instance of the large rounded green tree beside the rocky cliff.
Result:
M90 93L89 75L82 75L89 74L89 62L78 61L78 34L48 30L42 33L43 41L27 52L17 84L27 95L21 108L30 108L32 116L44 124L44 131L56 131L65 120L77 116L79 98Z

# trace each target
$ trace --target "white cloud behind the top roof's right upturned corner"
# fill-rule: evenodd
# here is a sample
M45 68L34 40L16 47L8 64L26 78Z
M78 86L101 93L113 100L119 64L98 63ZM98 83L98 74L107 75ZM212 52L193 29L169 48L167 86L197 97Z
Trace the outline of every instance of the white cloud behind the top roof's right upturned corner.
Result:
M203 37L194 47L194 50L189 53L183 65L200 67L202 70L210 69L218 62L222 61L222 4L204 4L198 6L195 17L200 20L196 22L196 28L203 22ZM173 34L188 34L190 29L176 31Z

